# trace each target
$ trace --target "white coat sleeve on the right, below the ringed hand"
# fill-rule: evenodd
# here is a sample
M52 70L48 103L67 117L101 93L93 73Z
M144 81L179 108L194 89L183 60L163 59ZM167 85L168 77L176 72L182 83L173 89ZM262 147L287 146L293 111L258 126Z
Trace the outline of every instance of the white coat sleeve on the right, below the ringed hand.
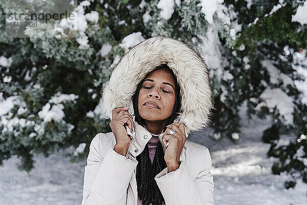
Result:
M188 167L183 161L177 170L167 173L167 167L155 180L165 199L166 205L214 205L214 183L210 173L212 168L208 148L204 151L202 170L195 180L191 177Z

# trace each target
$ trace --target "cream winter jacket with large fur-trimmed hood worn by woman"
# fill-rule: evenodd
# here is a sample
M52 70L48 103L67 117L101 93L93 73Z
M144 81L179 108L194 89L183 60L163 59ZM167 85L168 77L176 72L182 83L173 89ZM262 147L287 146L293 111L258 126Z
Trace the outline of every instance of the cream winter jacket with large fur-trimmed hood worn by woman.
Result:
M214 109L207 65L186 44L161 35L144 40L119 60L104 86L101 114L112 120L112 110L125 106L135 121L131 96L146 74L162 63L174 72L181 87L182 112L174 122L185 125L187 137L191 130L206 127L210 109ZM116 140L112 132L98 133L93 138L84 169L81 205L137 205L136 157L151 134L136 121L135 132L126 129L131 137L126 156L114 151ZM163 133L159 136L161 143L162 137ZM211 168L208 148L187 139L179 168L167 173L166 167L155 177L165 204L214 205Z

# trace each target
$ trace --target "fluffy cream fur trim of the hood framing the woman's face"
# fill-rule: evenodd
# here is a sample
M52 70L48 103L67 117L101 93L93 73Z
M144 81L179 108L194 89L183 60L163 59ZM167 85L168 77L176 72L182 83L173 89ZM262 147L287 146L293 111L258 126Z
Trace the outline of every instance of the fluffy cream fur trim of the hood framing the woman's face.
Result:
M161 64L174 72L181 88L182 112L175 121L183 123L188 133L207 127L214 109L207 64L187 44L162 35L144 40L122 56L104 85L101 115L112 119L112 110L120 106L133 111L131 97L138 84Z

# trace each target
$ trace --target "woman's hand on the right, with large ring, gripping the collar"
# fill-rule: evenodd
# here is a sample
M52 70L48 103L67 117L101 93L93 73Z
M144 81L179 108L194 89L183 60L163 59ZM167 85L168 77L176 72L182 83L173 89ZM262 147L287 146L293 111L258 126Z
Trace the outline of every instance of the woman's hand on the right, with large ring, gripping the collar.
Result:
M168 134L173 129L175 133L173 135ZM186 134L183 123L173 122L166 128L163 134L163 144L166 146L167 141L169 145L166 148L164 160L166 162L168 172L172 172L179 168L180 154L186 141Z

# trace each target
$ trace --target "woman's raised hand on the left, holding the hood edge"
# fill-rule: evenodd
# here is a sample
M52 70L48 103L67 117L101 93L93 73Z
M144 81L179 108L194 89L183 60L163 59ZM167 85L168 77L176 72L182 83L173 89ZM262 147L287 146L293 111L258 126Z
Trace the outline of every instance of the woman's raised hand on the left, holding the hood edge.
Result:
M127 135L125 124L131 131L134 131L133 117L127 110L128 108L125 107L115 108L112 111L112 121L109 123L116 140L114 150L123 156L126 156L131 141Z

